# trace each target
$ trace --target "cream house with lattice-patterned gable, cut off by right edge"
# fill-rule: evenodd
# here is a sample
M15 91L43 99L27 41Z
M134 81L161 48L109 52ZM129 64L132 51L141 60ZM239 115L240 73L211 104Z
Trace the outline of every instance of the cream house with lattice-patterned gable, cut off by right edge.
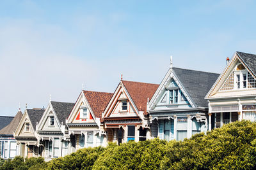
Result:
M256 119L256 55L235 52L209 90L209 130L237 120Z

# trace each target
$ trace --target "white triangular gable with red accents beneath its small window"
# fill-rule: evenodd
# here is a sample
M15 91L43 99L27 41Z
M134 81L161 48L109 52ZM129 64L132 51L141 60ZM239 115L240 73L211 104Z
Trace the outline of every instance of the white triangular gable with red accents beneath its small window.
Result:
M87 110L87 116L83 117L83 108L86 108ZM86 101L83 92L79 95L77 102L72 109L70 115L68 116L67 123L94 123L95 118L93 117L92 110L90 108L90 105Z

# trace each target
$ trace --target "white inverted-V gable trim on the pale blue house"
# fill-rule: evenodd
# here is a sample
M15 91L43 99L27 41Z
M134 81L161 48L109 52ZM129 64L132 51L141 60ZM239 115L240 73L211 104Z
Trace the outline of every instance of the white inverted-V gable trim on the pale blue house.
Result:
M159 97L161 97L162 92L165 89L170 89L170 88L166 87L166 85L170 80L172 80L172 78L175 81L175 83L177 84L177 86L179 87L177 89L180 89L181 92L184 94L184 96L188 99L189 104L192 107L196 106L196 104L191 100L191 97L189 96L188 92L186 92L186 89L184 89L184 87L182 86L182 83L180 83L179 78L177 77L177 75L175 74L175 72L173 71L173 69L171 67L168 70L168 72L165 74L163 80L161 81L161 84L159 85L156 92L154 93L154 96L148 103L148 108L147 108L148 112L150 112L150 110L154 110L154 107L156 106L157 102L160 100Z

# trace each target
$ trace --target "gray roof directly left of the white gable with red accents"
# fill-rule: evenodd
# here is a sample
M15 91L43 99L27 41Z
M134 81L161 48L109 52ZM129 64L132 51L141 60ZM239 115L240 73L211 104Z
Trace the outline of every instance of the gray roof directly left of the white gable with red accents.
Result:
M52 108L54 109L58 120L66 124L66 118L68 117L70 111L74 108L75 103L64 103L58 101L51 101Z

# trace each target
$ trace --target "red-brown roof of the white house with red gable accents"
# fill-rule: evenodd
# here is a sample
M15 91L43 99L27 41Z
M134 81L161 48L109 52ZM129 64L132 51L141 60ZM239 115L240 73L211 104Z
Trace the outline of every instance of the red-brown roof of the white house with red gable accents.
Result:
M83 93L90 107L92 108L95 117L102 120L102 112L104 112L113 94L106 92L92 92L86 90L83 90Z

